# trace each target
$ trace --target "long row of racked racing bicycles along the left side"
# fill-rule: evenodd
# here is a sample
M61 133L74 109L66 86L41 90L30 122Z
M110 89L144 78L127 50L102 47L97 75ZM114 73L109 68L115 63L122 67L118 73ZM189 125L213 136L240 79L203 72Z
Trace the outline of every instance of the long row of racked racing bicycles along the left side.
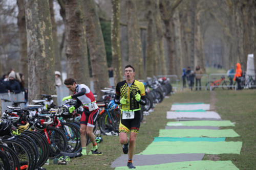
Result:
M142 107L144 113L172 92L172 86L165 78L148 78L144 85L147 100L147 105ZM115 89L102 91L102 100L97 101L100 112L94 133L118 135L120 109L113 100ZM3 113L0 122L0 169L44 169L41 166L49 157L80 156L79 122L83 108L79 107L71 114L69 107L76 105L76 101L69 100L56 106L54 97L42 94L42 100L35 100L34 105L26 108L19 107L23 102L12 102L12 106L8 106L9 110ZM90 138L87 139L88 144ZM100 139L96 138L96 141L101 142Z

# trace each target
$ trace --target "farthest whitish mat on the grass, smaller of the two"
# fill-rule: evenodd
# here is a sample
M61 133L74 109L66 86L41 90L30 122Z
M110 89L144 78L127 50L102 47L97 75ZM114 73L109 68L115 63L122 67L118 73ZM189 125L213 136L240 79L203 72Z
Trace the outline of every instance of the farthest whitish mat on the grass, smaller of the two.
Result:
M195 105L172 105L170 110L210 110L209 104L195 104Z

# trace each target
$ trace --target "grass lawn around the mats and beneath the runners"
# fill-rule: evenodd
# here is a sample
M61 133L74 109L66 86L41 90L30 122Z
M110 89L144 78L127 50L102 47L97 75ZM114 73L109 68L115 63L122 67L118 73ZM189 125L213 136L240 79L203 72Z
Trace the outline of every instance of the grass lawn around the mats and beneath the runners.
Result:
M241 155L222 154L206 155L204 160L220 159L231 160L239 169L256 169L256 90L222 90L216 89L216 109L222 119L236 122L232 128L242 137L227 138L226 141L243 141ZM170 110L174 102L204 102L210 103L209 91L184 91L173 94L168 99L164 99L158 104L155 111L145 116L145 123L141 124L136 142L136 154L145 150L154 136L159 135L159 129L164 129L169 120L166 119L166 111ZM99 144L99 151L103 152L101 156L83 156L73 158L68 165L45 165L48 170L54 169L114 169L111 168L111 162L122 154L121 145L118 136L102 136L103 142ZM89 152L90 146L87 147ZM126 160L124 160L126 162Z

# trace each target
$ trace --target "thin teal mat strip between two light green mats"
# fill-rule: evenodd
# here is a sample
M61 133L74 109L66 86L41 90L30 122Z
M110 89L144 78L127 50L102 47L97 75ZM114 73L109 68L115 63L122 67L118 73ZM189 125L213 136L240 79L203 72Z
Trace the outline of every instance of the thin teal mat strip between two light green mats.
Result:
M160 141L211 141L211 142L217 142L217 141L225 141L225 137L155 137L153 142L160 142Z

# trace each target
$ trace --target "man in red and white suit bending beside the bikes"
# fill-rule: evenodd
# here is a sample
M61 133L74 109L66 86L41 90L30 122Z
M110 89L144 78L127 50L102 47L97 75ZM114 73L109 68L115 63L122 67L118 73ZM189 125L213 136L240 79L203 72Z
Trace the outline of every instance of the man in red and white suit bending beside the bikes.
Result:
M87 137L89 135L93 148L89 152L89 155L102 155L102 152L98 152L98 145L95 141L95 135L93 133L93 128L95 127L96 119L99 115L99 108L96 104L96 100L90 88L85 84L77 84L74 79L68 78L64 81L67 88L74 92L73 95L66 96L62 101L68 99L76 99L77 103L75 106L69 108L70 113L72 113L79 106L83 106L83 112L80 120L80 140L82 145L82 155L87 155L86 143Z

